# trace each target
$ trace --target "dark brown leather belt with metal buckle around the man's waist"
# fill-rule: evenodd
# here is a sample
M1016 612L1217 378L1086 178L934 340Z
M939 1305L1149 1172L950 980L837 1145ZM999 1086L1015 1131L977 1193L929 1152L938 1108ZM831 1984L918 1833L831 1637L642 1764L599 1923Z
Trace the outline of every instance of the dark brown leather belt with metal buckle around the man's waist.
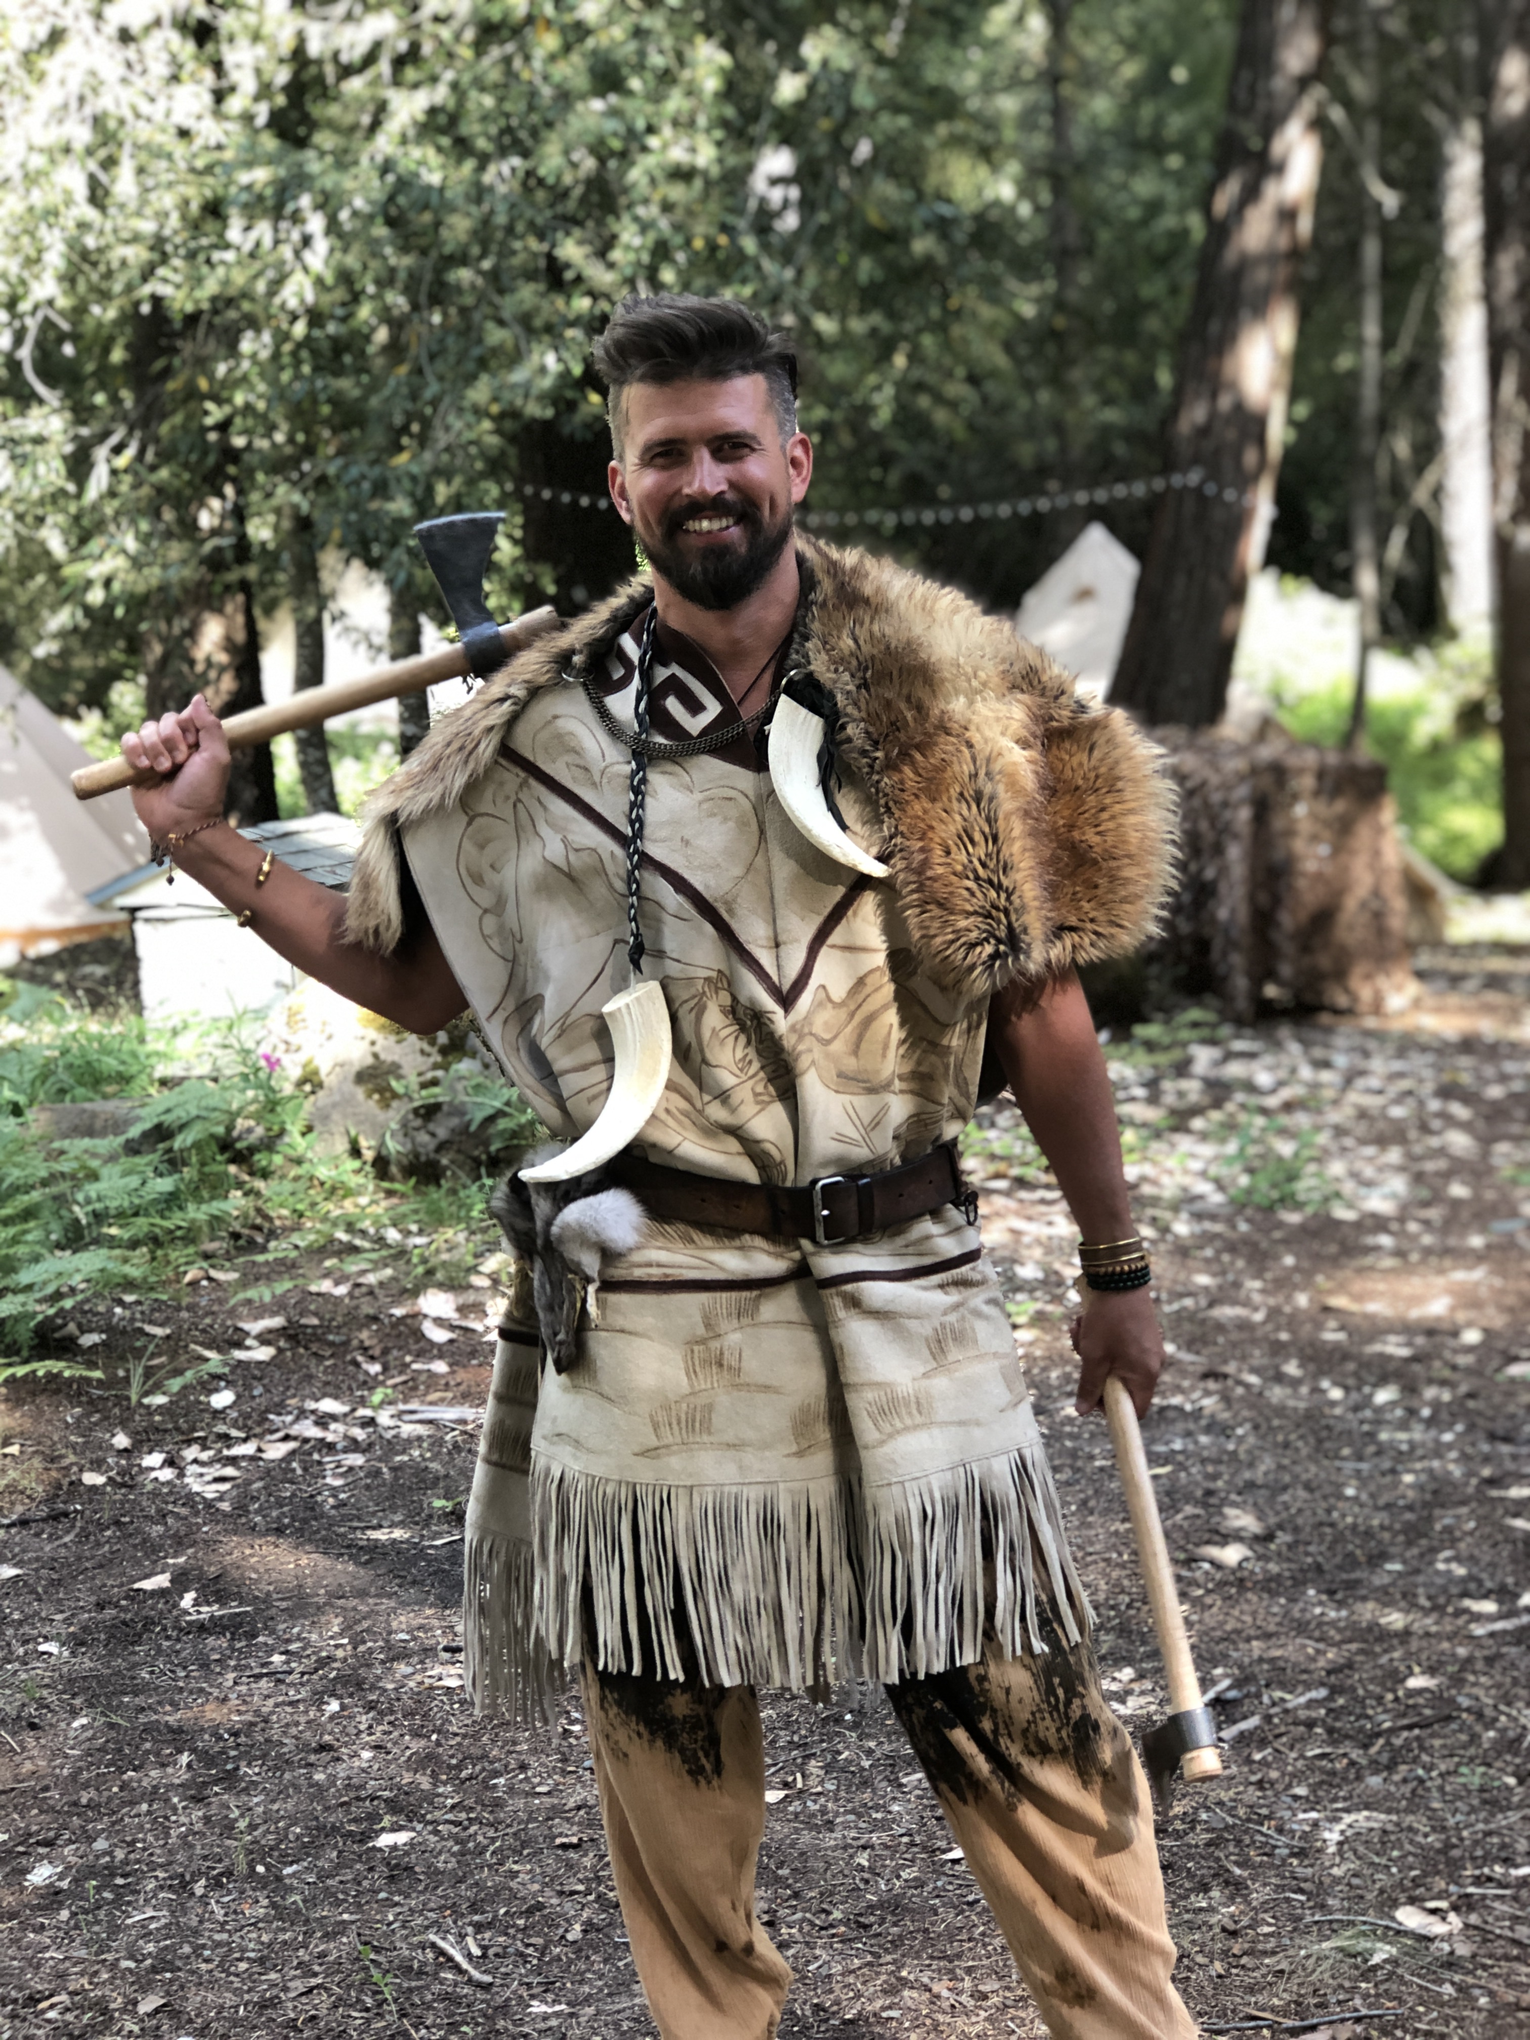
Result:
M963 1181L955 1140L877 1175L820 1175L792 1187L728 1183L690 1169L665 1169L639 1155L618 1155L610 1163L610 1179L630 1189L651 1218L777 1240L816 1240L820 1246L924 1218L942 1204L961 1206L967 1224L977 1224L977 1191Z

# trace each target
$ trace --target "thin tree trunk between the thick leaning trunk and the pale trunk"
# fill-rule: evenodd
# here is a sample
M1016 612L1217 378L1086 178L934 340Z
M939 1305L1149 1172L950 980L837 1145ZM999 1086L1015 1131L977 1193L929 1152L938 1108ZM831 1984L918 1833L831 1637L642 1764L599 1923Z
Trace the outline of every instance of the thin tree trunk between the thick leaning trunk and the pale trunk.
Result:
M1355 0L1361 135L1361 373L1355 392L1355 475L1348 500L1350 583L1361 610L1355 706L1346 743L1365 736L1365 681L1381 643L1381 555L1377 541L1377 449L1381 445L1381 59L1375 0Z

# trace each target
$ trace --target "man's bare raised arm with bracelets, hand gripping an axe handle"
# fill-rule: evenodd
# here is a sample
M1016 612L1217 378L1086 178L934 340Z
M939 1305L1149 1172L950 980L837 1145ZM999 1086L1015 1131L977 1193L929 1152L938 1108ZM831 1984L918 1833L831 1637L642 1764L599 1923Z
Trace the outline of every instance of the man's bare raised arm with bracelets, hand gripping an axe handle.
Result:
M300 877L279 859L257 887L265 853L235 828L204 826L222 816L228 745L202 696L182 714L126 734L122 755L137 771L159 775L133 789L133 806L151 840L186 836L175 865L231 914L249 912L249 932L279 957L414 1034L432 1034L463 1012L467 1000L428 922L379 957L345 938L341 894Z

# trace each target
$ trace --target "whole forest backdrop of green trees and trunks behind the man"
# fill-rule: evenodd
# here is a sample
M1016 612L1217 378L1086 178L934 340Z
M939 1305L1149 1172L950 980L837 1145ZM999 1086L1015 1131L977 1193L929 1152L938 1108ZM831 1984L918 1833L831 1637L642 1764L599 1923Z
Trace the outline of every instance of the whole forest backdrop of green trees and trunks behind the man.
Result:
M1367 651L1428 647L1436 698L1377 704L1353 734L1389 757L1406 812L1467 812L1432 840L1479 875L1516 683L1442 545L1446 196L1463 159L1483 175L1485 126L1493 173L1493 78L1518 75L1524 16L1524 0L14 0L0 659L102 747L198 685L253 706L259 624L282 608L298 683L322 679L347 561L390 590L379 651L416 649L435 604L410 526L486 504L510 512L500 612L569 612L632 567L600 508L592 337L630 288L734 292L800 341L820 524L1012 608L1091 516L1149 555L1153 583L1157 520L1181 567L1218 559L1240 594L1263 555L1357 592ZM1510 126L1522 155L1522 106ZM1289 186L1304 139L1306 190L1269 228L1283 253L1253 251L1289 271L1257 282L1269 390L1228 426L1226 247L1240 220L1257 239L1259 180ZM1489 239L1524 253L1530 180L1501 192ZM1187 422L1202 398L1222 420L1210 455L1206 418ZM1191 467L1210 508L1200 488L1165 504L1169 469ZM1499 488L1503 530L1522 496L1516 512ZM1157 583L1155 636L1197 692L1159 712L1151 675L1124 692L1149 720L1212 722L1226 669L1173 641L1181 604ZM1138 622L1153 600L1144 585ZM400 749L418 714L404 704ZM1344 741L1348 687L1289 720ZM337 804L339 743L298 741L286 808ZM277 812L269 753L247 755L235 800L247 820ZM1530 883L1518 806L1522 853L1487 871Z

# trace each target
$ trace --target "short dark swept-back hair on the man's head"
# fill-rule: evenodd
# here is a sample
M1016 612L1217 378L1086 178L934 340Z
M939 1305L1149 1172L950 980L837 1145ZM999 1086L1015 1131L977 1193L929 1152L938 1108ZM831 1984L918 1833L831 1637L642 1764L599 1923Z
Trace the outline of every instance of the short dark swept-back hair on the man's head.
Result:
M798 428L798 357L792 343L736 298L692 298L669 290L653 298L622 298L592 359L606 384L606 416L618 461L622 394L630 384L763 375L781 445Z

